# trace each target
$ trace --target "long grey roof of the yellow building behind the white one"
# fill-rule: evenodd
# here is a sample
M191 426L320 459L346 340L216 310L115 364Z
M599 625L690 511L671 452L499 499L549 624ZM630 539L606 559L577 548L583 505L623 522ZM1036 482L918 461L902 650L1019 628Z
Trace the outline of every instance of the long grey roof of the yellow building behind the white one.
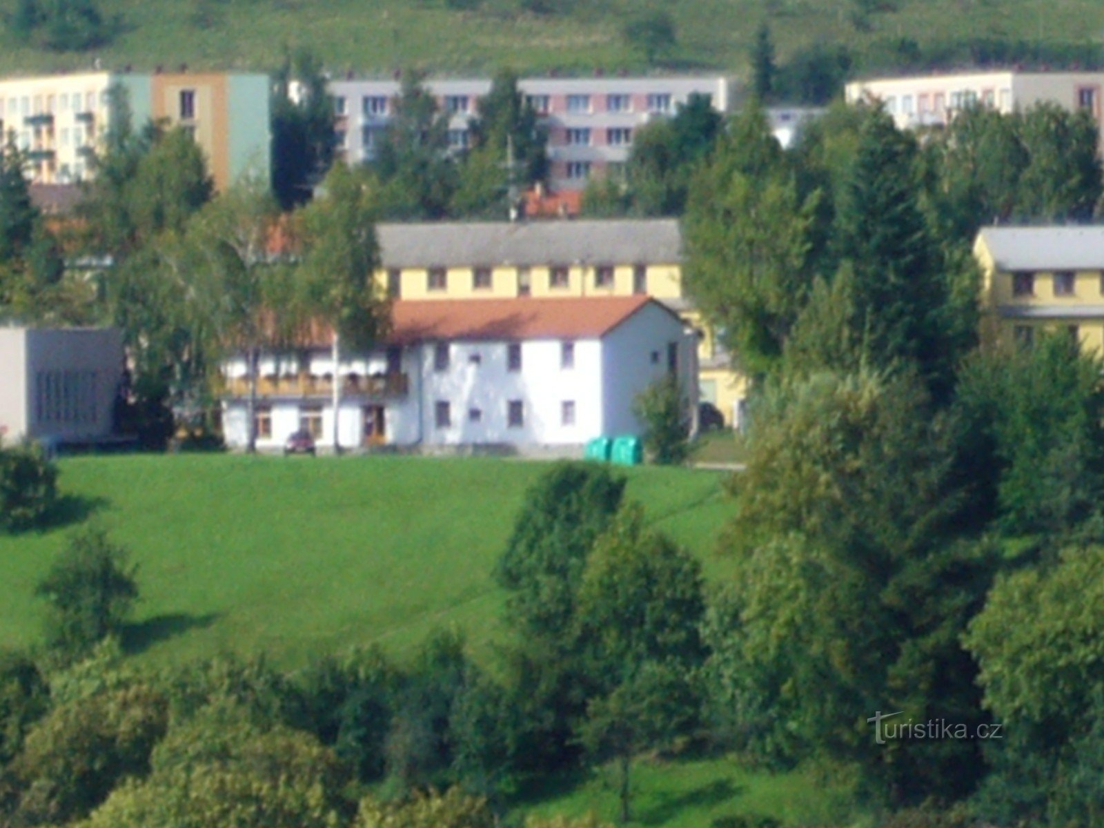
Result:
M677 264L675 219L378 224L384 267Z

